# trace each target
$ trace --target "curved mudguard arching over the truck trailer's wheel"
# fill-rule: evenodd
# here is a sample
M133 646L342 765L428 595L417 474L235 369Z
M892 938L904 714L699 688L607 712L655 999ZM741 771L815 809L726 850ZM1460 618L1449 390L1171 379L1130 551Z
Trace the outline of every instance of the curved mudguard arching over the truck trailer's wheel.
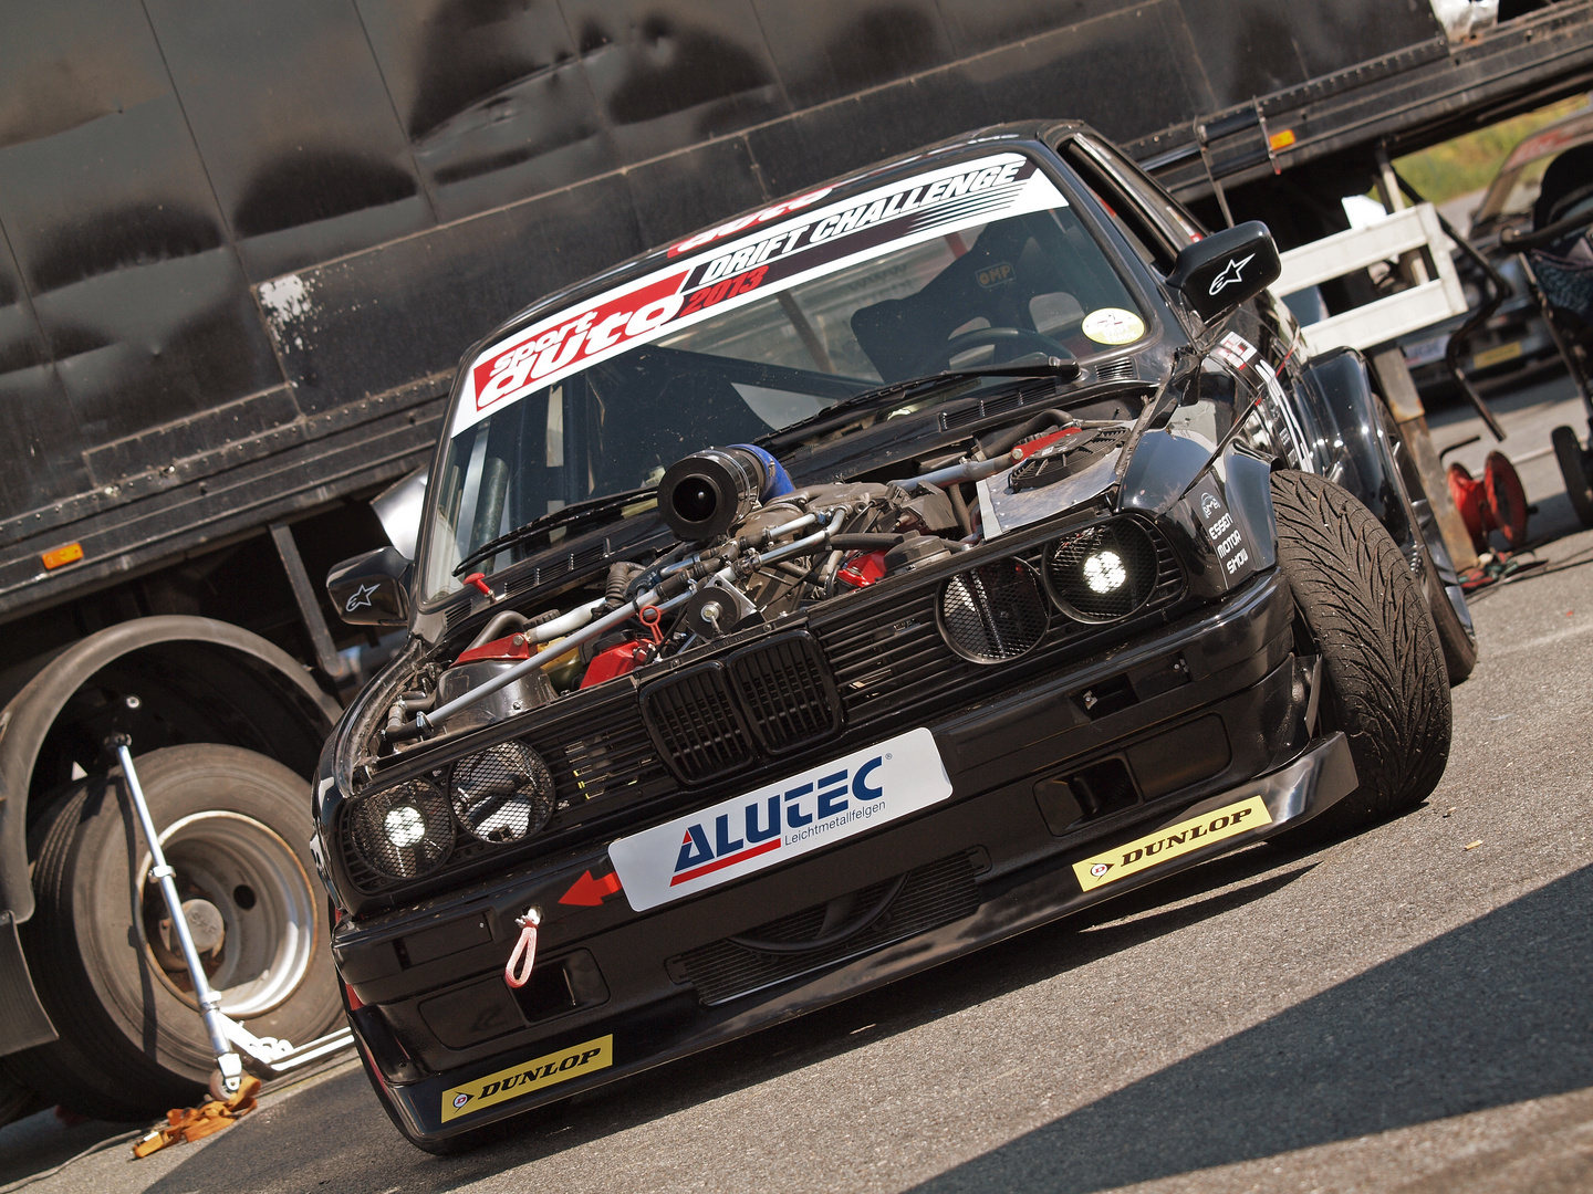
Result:
M280 713L304 731L331 732L341 708L282 648L250 630L210 618L135 618L81 638L51 659L0 710L0 909L13 923L33 915L33 887L27 868L27 799L33 767L51 726L72 696L107 664L159 645L209 648L271 688ZM314 759L314 751L311 753ZM307 777L306 769L306 777ZM306 778L306 820L309 778Z

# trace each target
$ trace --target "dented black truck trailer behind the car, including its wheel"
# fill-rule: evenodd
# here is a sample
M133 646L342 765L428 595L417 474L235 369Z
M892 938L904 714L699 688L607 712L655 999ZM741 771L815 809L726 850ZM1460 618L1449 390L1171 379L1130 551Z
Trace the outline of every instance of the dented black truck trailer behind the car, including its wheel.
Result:
M1453 16L1456 0L1440 10ZM1478 11L1481 6L1478 6ZM342 1014L307 777L462 349L538 295L967 129L1077 116L1220 224L1343 226L1378 148L1587 89L1593 3L61 0L0 14L0 1118Z

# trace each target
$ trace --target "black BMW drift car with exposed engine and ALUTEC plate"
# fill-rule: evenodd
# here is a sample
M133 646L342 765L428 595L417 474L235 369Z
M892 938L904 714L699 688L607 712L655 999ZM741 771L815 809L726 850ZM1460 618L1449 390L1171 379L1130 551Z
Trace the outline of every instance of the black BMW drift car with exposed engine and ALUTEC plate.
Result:
M417 559L328 578L411 630L315 793L398 1129L448 1149L1421 801L1466 607L1276 271L1088 129L1004 126L472 349Z

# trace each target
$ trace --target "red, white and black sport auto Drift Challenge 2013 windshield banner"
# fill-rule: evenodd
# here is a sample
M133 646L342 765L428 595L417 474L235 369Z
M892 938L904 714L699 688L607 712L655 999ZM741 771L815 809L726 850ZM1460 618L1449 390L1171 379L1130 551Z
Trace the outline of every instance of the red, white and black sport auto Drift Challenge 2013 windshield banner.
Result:
M881 247L906 247L1066 205L1034 159L1000 153L803 210L499 341L470 365L449 435L589 365L878 256Z

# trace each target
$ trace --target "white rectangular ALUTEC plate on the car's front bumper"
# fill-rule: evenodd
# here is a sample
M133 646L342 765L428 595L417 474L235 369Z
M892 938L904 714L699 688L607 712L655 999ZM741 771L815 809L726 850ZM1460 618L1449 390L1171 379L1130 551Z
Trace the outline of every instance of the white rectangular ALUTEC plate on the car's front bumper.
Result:
M951 794L935 736L911 729L609 847L642 912L868 833Z

